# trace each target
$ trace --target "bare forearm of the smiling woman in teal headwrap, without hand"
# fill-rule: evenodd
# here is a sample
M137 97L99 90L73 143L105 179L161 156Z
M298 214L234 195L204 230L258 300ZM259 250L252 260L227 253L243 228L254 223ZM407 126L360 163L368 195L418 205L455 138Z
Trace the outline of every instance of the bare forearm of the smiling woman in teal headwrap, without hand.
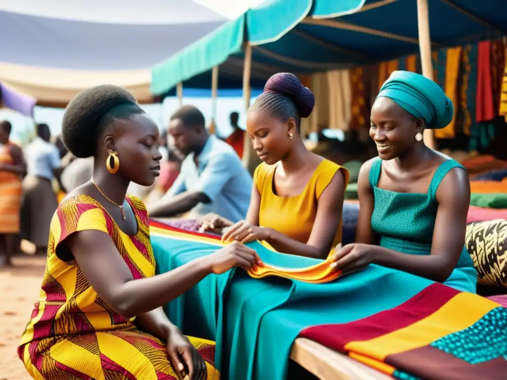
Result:
M375 264L437 282L447 280L456 264L444 255L412 255L379 246L372 246L372 251Z

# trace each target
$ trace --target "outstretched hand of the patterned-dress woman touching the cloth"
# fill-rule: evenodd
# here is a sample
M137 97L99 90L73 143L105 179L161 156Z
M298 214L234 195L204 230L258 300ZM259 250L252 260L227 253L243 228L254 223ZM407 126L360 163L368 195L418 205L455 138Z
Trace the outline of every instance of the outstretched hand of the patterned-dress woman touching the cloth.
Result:
M207 256L211 273L220 275L231 268L241 267L245 271L253 265L262 264L257 252L239 242L232 242L226 247Z

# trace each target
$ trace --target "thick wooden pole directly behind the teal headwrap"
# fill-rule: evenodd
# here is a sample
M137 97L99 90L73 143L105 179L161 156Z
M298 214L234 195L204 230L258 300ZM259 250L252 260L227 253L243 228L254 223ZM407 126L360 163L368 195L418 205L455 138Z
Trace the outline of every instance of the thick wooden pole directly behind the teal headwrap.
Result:
M417 26L419 29L419 50L421 52L422 74L426 78L433 80L428 0L417 0ZM432 129L424 130L424 143L431 149L436 147Z

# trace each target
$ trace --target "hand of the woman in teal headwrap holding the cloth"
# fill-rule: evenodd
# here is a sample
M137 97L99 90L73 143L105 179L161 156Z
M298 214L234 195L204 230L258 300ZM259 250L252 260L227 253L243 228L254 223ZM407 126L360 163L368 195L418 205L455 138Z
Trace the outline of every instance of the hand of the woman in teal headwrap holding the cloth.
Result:
M372 246L369 244L347 244L342 247L339 244L333 256L332 268L342 271L344 274L357 272L368 267L373 261Z

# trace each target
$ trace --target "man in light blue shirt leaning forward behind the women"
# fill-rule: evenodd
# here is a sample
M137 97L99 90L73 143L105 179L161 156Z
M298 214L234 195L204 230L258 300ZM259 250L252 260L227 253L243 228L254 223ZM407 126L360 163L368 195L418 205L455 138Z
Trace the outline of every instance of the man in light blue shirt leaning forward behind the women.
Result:
M252 178L234 149L204 125L201 111L191 105L171 116L167 134L186 158L169 191L150 207L150 216L192 211L192 217L212 212L232 222L246 217Z

